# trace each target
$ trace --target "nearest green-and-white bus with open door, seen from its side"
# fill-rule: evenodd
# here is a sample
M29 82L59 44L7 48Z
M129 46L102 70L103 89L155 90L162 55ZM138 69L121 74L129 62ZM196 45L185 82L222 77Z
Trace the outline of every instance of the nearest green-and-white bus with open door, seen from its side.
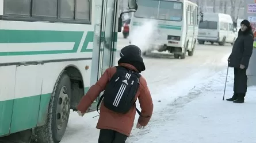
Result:
M0 140L62 140L70 109L115 64L118 13L118 0L0 1Z

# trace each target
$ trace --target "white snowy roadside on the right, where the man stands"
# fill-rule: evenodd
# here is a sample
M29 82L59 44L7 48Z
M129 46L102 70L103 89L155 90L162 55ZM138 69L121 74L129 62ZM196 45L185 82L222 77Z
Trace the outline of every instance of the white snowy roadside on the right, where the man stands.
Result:
M232 95L232 73L230 70L226 98ZM222 101L225 78L226 70L187 93L183 89L173 102L165 98L165 102L155 103L159 108L150 125L134 129L128 142L256 142L256 87L249 88L245 104ZM174 89L181 89L178 87Z

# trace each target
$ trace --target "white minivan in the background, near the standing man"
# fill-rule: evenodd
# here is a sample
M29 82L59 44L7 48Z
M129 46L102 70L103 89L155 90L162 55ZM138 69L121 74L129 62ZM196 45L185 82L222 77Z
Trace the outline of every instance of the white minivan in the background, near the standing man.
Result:
M230 15L223 13L204 13L204 19L199 23L197 40L199 44L205 42L225 43L235 42L236 34Z

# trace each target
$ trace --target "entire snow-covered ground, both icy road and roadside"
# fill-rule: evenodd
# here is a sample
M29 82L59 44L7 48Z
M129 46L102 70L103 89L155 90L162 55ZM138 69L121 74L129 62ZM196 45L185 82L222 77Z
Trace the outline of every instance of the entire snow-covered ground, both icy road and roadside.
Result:
M118 49L128 44L119 39ZM150 53L144 57L154 113L144 129L132 130L128 143L256 142L256 88L250 87L244 104L222 101L230 44L197 45L194 56ZM117 56L117 59L119 56ZM232 96L230 69L226 97ZM137 105L139 106L139 105ZM97 112L78 117L71 112L63 143L97 143ZM135 125L137 121L137 115Z

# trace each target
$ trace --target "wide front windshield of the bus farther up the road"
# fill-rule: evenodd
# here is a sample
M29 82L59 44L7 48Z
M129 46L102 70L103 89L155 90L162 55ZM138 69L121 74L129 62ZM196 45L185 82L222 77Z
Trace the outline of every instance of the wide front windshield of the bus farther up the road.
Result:
M181 2L137 0L137 5L140 8L135 12L135 17L167 21L182 20Z

